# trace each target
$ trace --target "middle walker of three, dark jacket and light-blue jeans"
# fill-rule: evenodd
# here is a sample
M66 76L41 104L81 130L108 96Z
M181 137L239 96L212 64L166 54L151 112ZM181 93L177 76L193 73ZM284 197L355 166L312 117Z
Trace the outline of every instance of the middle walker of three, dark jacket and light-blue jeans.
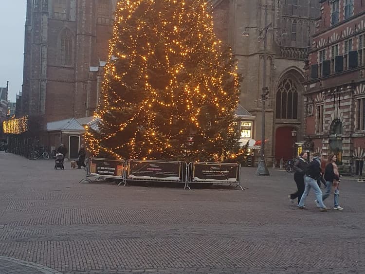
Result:
M329 208L325 206L322 201L322 191L317 184L317 179L321 176L321 154L314 153L312 161L308 164L306 175L304 176L305 189L298 204L300 209L307 209L304 205L306 202L306 198L310 192L310 188L313 188L314 193L316 195L318 205L322 212L328 211Z

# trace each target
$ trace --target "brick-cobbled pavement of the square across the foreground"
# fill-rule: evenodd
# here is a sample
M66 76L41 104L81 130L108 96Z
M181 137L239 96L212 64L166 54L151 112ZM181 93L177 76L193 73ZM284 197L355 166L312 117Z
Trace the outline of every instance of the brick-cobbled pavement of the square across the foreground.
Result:
M255 176L244 191L78 183L0 152L0 273L365 273L365 183L341 182L343 212L288 201L292 174ZM333 196L326 201L333 206Z

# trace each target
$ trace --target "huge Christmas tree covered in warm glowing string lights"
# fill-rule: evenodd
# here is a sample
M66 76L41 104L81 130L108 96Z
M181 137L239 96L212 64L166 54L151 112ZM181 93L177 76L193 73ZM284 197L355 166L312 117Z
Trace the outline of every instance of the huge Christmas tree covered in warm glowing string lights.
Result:
M212 161L237 143L239 76L206 0L119 1L94 155Z

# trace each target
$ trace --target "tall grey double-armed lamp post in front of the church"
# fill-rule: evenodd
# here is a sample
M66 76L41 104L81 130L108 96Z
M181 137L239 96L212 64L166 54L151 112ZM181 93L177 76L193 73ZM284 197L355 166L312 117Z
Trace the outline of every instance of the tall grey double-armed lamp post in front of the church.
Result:
M261 101L262 101L262 121L261 121L261 159L258 162L256 175L261 176L270 176L269 170L265 163L265 107L266 100L269 95L269 88L266 86L266 55L267 55L267 33L268 31L273 30L285 30L282 28L273 28L273 23L268 23L268 6L265 5L265 27L246 27L245 31L242 33L242 37L249 37L250 33L248 30L257 30L259 32L259 36L257 40L259 42L264 41L264 52L263 52L263 80L262 80L262 93L261 93ZM287 34L283 33L281 36L285 37Z

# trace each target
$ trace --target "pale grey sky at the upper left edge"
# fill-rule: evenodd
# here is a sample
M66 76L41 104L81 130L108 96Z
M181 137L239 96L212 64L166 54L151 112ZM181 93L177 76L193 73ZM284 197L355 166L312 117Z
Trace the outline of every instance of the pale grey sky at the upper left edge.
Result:
M9 100L15 102L23 81L26 0L0 0L0 86L9 81Z

